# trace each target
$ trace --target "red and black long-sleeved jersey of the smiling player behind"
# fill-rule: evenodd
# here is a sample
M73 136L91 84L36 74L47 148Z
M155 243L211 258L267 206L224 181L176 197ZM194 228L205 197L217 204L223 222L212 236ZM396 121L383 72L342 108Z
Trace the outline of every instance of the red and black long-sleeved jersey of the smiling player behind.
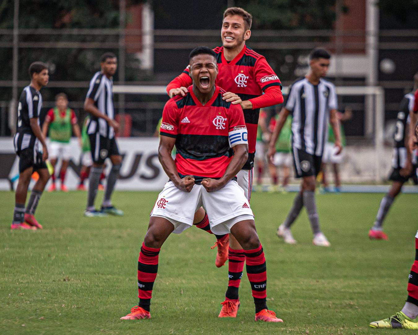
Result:
M245 124L248 131L248 160L243 169L249 170L254 165L260 108L283 102L283 96L280 91L281 83L266 59L247 46L244 46L237 57L230 62L224 57L223 46L218 46L213 50L217 54L219 70L216 85L222 87L226 92L239 95L242 101L250 100L254 108L244 110ZM188 87L191 83L189 67L187 67L180 76L168 84L167 92L171 88ZM263 91L272 87L277 88L277 92L271 97L267 93L263 95Z

